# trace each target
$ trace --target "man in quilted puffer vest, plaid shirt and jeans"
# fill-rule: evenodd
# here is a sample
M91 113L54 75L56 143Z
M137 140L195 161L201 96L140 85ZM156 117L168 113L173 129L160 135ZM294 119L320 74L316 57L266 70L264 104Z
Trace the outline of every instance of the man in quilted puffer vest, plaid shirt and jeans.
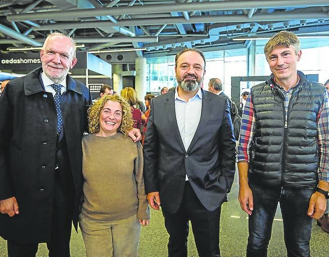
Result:
M328 93L297 71L294 33L278 32L264 52L272 75L251 89L237 153L247 256L267 255L278 202L288 256L310 256L312 218L323 215L329 190Z

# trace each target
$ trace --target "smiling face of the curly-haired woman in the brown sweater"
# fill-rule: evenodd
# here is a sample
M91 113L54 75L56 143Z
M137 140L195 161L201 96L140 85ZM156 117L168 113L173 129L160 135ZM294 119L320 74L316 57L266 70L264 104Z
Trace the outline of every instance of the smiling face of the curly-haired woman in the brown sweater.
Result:
M113 136L117 133L122 121L120 102L108 100L100 113L99 136Z

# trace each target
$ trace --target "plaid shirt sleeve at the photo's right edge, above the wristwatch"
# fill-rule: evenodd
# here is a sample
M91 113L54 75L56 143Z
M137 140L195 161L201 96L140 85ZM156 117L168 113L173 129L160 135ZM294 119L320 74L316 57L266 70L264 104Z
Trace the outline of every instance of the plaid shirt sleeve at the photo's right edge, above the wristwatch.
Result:
M325 92L323 105L318 113L317 131L320 149L320 161L318 168L319 180L329 182L329 98Z

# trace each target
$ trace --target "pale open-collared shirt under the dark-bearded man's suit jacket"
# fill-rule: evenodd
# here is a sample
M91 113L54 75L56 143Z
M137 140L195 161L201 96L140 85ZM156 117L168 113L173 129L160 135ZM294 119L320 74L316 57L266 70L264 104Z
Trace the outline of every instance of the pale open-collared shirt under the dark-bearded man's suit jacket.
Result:
M189 149L201 119L202 91L201 88L199 88L196 95L186 102L178 96L177 88L178 87L175 89L176 121L186 151ZM187 175L185 180L189 180Z

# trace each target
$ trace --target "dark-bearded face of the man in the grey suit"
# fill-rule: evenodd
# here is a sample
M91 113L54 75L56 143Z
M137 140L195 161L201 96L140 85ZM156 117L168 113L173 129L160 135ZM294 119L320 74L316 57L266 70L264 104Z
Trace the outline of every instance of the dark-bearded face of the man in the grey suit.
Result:
M175 71L178 85L185 91L195 91L203 81L204 60L199 53L186 51L179 56Z

